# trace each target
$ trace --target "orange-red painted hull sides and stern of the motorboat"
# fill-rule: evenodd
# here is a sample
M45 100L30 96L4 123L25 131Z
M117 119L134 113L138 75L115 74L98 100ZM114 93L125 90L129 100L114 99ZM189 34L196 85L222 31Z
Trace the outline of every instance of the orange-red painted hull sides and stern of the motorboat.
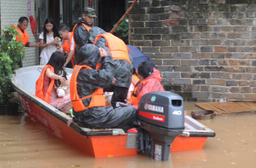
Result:
M67 126L66 121L44 110L26 96L19 93L25 112L57 137L72 144L93 157L137 154L136 148L126 148L127 134L86 136ZM178 135L170 151L201 149L207 137Z

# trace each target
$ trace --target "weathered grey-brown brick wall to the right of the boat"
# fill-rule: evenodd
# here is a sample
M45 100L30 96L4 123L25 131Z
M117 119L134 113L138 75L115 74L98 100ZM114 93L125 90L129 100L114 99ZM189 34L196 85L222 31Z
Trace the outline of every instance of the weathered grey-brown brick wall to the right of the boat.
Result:
M161 71L165 89L185 100L256 99L254 3L138 0L129 42Z

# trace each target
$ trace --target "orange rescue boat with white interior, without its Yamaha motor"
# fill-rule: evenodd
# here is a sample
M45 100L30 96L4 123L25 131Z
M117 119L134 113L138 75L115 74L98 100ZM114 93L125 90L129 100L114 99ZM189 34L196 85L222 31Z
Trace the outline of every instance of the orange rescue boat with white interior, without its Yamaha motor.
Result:
M90 129L76 123L67 125L72 119L35 96L36 80L43 65L23 67L16 71L12 86L18 92L25 113L60 139L70 143L93 157L137 154L137 132L124 132L123 129ZM67 68L68 74L72 70ZM215 132L188 115L184 116L184 130L171 144L170 151L201 149L207 137Z

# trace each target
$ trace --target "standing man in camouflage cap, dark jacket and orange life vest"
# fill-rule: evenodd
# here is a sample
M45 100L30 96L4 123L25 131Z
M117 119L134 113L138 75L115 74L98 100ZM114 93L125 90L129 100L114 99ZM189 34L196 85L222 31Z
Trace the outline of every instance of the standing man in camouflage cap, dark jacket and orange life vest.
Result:
M95 9L91 7L85 7L83 9L82 17L75 20L75 26L73 28L74 41L75 41L75 64L78 61L78 50L79 48L89 42L90 34L89 29L92 27L94 18L97 17L95 14Z

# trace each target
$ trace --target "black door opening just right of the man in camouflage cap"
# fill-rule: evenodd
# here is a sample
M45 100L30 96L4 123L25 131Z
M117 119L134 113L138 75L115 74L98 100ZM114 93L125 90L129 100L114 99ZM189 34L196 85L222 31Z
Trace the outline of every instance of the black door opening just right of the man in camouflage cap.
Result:
M98 0L99 27L109 32L125 13L125 0Z

